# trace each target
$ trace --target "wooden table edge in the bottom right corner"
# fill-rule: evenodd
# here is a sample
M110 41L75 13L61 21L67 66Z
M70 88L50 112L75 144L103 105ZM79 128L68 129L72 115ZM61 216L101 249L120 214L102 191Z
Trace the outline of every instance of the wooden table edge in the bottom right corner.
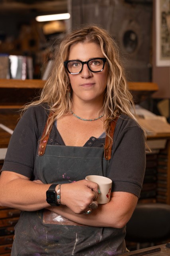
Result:
M168 243L170 245L170 243ZM135 250L132 252L127 252L124 254L119 254L120 256L170 256L170 248L166 247L166 244L153 246L145 249Z

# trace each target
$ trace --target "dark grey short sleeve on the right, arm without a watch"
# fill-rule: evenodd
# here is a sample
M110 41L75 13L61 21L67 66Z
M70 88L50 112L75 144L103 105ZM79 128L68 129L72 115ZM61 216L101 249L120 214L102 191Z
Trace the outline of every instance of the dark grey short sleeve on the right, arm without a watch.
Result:
M120 120L116 128L108 173L113 180L112 191L139 198L146 168L145 136L133 120Z

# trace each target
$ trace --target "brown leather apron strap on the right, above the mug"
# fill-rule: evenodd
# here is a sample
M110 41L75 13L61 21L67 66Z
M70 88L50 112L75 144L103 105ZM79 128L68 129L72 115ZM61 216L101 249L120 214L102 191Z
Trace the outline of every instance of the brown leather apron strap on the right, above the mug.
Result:
M110 124L109 136L112 139L113 139L113 134L115 131L115 126L116 126L118 118L119 118L119 116L117 116L115 118L115 120L113 120ZM111 140L109 140L109 136L106 135L105 145L104 145L104 157L106 160L110 160L110 158L111 158L111 149L112 149L112 145L113 145L113 141L112 141L112 143L110 143Z

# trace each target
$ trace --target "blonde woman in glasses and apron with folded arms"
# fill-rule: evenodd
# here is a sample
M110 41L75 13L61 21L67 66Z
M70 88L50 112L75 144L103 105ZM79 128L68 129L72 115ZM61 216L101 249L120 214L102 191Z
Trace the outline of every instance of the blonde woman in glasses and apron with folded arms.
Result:
M40 99L14 130L2 168L0 204L22 211L12 256L126 251L125 225L145 172L145 136L131 106L109 33L87 26L67 35ZM96 203L100 191L85 180L90 174L113 180L109 203Z

